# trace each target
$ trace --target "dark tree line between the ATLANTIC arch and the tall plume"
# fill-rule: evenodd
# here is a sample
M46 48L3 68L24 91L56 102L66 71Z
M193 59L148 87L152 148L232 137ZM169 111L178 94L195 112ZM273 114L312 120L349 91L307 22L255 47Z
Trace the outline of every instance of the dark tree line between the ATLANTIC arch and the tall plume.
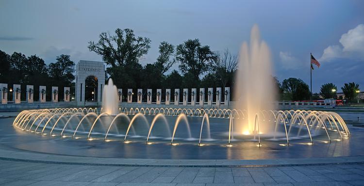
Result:
M155 62L142 66L140 60L148 53L150 42L147 37L135 36L131 29L116 29L114 34L102 32L97 42L89 42L88 49L102 57L106 73L117 87L153 91L232 87L237 58L228 49L214 52L199 39L189 39L177 46L163 41ZM174 64L179 64L179 71L170 70Z

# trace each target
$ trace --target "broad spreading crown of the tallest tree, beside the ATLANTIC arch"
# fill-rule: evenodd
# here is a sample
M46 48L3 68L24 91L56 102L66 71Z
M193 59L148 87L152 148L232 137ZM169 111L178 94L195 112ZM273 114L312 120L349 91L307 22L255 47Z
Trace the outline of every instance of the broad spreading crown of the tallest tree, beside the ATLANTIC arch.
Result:
M108 32L101 32L99 41L90 41L88 46L90 51L102 56L102 60L112 67L139 62L139 59L148 53L149 48L150 39L135 37L131 29L116 29L115 35L112 36Z

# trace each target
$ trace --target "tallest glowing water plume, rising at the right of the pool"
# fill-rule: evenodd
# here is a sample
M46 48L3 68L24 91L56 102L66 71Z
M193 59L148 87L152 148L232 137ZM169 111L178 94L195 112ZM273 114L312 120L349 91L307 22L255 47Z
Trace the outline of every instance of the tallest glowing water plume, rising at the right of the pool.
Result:
M276 95L272 79L270 50L260 39L259 28L254 25L250 33L250 44L244 42L239 52L236 75L235 109L245 109L248 115L237 124L239 133L252 133L255 115L261 110L270 110ZM272 130L267 122L260 124L263 133Z

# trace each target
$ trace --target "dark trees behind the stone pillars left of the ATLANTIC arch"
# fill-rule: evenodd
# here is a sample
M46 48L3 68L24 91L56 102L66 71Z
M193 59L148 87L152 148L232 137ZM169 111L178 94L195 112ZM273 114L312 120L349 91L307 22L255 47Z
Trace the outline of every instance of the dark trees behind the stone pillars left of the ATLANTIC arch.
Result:
M18 52L9 55L0 50L0 66L1 82L7 83L9 88L20 84L21 100L26 99L26 85L34 85L34 101L39 100L39 86L42 85L47 86L48 101L51 100L51 86L58 86L60 100L63 100L63 87L71 87L71 94L74 94L75 63L69 55L57 56L55 62L47 65L36 55L27 57Z

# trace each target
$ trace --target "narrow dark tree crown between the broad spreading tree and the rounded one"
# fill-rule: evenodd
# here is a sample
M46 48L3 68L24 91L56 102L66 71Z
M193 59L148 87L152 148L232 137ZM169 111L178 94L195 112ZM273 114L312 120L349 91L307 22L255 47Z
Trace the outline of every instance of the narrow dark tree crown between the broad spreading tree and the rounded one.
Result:
M161 42L159 45L159 56L157 58L157 62L155 65L160 68L161 73L164 74L168 71L168 69L176 62L173 57L174 54L174 46L167 43Z

